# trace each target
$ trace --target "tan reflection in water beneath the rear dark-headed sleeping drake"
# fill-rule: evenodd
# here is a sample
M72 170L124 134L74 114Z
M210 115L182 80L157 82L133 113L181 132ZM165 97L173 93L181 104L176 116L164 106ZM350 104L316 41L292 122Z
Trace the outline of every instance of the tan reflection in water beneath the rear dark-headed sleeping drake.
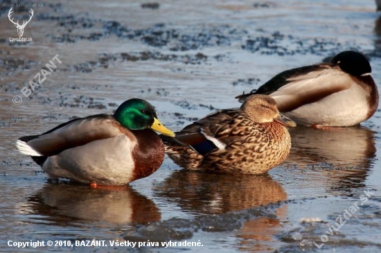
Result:
M365 127L290 129L292 149L284 165L326 175L330 189L364 187L375 158L375 132ZM305 171L304 171L305 172Z

